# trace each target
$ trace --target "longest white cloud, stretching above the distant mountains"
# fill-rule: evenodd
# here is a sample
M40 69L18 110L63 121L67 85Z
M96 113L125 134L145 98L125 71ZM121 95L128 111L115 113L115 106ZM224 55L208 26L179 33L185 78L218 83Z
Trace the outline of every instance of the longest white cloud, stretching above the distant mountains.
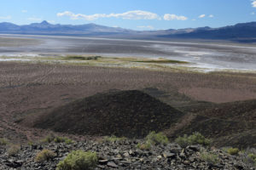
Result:
M120 18L124 20L160 20L158 14L154 14L148 11L134 10L127 11L122 14L73 14L73 12L65 11L58 13L58 17L68 16L71 20L97 20L100 18Z

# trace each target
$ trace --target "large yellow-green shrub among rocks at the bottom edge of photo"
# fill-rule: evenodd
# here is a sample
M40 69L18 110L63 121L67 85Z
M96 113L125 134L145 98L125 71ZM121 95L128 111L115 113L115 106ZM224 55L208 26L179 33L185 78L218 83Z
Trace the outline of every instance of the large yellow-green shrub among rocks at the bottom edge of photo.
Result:
M56 170L93 170L97 160L96 153L75 150L58 163Z

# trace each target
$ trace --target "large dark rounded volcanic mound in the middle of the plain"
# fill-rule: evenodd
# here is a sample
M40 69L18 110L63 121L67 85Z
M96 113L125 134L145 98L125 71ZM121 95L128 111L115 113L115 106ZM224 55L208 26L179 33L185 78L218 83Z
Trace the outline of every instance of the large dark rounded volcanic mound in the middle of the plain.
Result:
M183 116L141 91L119 91L79 99L39 116L34 127L62 133L144 137Z

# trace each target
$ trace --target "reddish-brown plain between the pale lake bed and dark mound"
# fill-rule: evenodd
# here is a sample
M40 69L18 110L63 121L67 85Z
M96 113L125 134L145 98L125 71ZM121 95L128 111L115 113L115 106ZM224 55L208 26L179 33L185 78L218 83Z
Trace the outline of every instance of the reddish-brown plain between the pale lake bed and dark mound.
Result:
M180 111L193 113L215 107L212 102L256 99L256 75L251 73L204 74L12 62L0 62L0 68L0 138L15 142L35 140L47 133L15 123L25 116L32 121L35 115L111 89L140 89ZM216 92L221 95L213 95ZM208 102L198 101L201 99Z

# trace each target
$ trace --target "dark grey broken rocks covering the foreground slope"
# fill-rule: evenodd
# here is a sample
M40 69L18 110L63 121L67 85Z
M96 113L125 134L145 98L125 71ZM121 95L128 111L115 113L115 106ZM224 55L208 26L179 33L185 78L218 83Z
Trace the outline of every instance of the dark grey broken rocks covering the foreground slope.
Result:
M255 169L244 157L230 156L224 150L189 145L160 144L151 150L137 148L139 140L116 142L84 141L73 144L49 143L22 145L15 156L9 156L7 147L0 148L0 169L54 170L72 150L93 151L98 162L95 169ZM35 157L44 149L55 152L49 161L37 162Z

